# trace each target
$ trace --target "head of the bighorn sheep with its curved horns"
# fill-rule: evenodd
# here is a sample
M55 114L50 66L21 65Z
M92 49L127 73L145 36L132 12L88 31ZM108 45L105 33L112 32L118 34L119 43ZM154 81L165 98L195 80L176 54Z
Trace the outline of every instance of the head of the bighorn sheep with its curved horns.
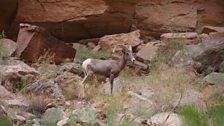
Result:
M131 46L129 46L129 47L126 47L124 45L117 45L117 46L122 48L122 52L123 52L124 58L126 60L131 61L132 63L135 62L135 57L133 56L133 52L132 52L132 47ZM115 52L116 47L114 48L113 52Z

